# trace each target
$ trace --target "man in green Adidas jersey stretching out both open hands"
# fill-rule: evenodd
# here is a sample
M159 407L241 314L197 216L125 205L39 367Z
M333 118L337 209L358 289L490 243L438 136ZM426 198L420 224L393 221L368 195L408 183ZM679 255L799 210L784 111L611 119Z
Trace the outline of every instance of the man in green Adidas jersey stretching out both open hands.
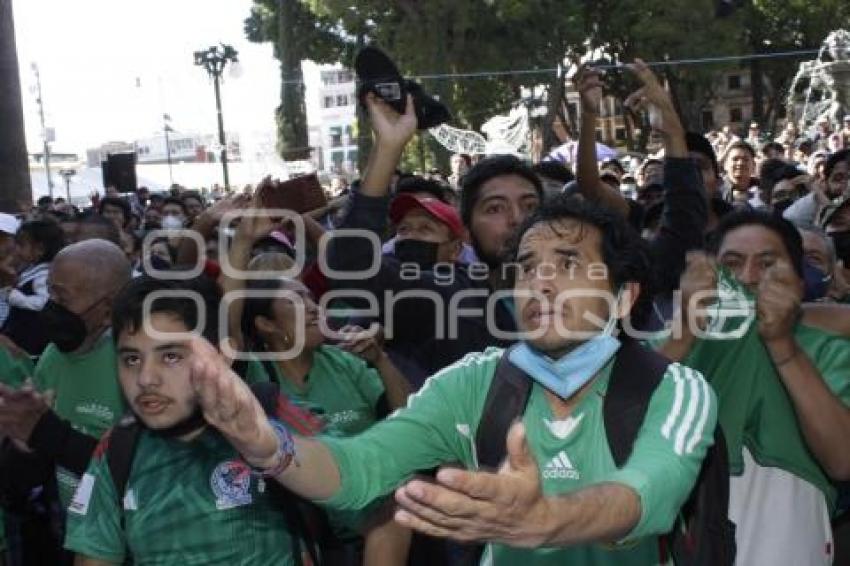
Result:
M533 467L533 496L516 506L514 529L481 537L451 527L429 532L486 538L493 544L484 559L501 564L658 564L658 535L671 528L712 442L714 394L699 373L671 365L630 459L615 466L602 404L619 347L613 327L647 307L646 249L623 218L564 198L541 206L519 234L515 312L526 341L509 355L533 383L509 443L514 459L524 454ZM475 470L474 439L503 354L490 348L466 356L356 437L296 438L296 463L277 479L324 505L356 509L416 470L449 463ZM562 366L570 370L559 373ZM210 363L197 375L205 415L247 461L268 467L280 452L272 428L255 402L237 395L244 385L220 368ZM244 403L225 403L222 390ZM418 527L428 509L411 486L397 493L405 511L396 517Z

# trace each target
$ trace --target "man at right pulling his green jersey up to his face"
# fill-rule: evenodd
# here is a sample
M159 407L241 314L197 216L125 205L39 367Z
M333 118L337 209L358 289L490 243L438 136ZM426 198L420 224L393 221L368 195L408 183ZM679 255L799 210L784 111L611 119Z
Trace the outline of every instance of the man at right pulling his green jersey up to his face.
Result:
M751 324L730 318L735 339L714 333L727 325L683 325L663 351L702 371L717 392L737 562L831 564L832 481L850 479L850 341L801 317L803 244L789 222L737 212L720 223L711 251L690 258L685 315L698 307L691 297L717 290L721 308L742 299Z

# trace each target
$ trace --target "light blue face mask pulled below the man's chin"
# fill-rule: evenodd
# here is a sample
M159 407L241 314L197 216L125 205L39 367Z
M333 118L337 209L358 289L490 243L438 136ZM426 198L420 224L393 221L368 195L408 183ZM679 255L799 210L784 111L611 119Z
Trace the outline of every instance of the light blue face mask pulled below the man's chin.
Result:
M619 299L618 296L618 304ZM538 352L527 342L521 342L510 350L508 359L534 381L566 401L593 379L617 353L620 341L612 336L616 325L617 317L611 316L599 335L558 360Z

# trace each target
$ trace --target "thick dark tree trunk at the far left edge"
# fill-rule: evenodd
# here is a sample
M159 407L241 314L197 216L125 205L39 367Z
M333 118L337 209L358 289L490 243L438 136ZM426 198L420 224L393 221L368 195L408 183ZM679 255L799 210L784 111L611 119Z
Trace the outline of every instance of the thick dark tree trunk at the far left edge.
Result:
M0 211L32 207L12 0L0 0Z

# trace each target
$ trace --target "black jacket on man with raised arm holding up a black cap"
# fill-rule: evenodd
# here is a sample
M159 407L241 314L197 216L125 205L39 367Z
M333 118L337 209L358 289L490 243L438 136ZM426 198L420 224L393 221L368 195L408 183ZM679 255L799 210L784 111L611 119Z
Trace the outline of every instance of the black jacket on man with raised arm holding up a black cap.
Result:
M339 230L360 229L385 235L389 197L351 195ZM494 336L494 327L515 331L513 316L503 301L495 301L488 317L491 298L486 277L464 264L455 263L445 270L422 271L417 277L406 276L393 256L380 255L363 237L335 237L328 245L331 269L341 272L367 270L380 256L377 272L369 277L346 280L329 278L333 290L366 291L375 297L375 317L387 334L387 349L395 359L406 358L423 375L433 374L469 352L488 346L504 346L509 340ZM362 301L347 300L362 307ZM470 312L466 312L470 311ZM488 324L487 319L491 322ZM415 369L412 370L415 372ZM409 373L409 372L408 372ZM420 376L408 375L414 384Z

